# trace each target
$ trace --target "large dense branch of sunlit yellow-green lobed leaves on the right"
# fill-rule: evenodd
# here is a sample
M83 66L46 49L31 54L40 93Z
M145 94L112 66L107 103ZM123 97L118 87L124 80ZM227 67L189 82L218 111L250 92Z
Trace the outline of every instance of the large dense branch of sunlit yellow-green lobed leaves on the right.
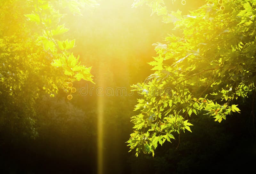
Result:
M210 115L221 122L239 113L238 98L255 91L256 1L207 1L188 15L167 11L161 0L136 0L133 5L144 3L164 22L173 22L174 30L183 31L154 44L158 56L149 62L154 73L132 85L142 98L134 109L140 113L132 117L128 146L137 156L154 156L158 143L191 131L191 115Z

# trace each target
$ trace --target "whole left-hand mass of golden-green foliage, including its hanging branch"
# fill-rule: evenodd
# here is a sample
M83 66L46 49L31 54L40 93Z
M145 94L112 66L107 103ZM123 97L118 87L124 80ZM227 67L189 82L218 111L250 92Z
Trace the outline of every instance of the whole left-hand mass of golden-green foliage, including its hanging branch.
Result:
M65 16L61 10L69 16L80 14L82 6L92 3L75 0L1 2L0 20L4 23L0 27L1 131L35 138L36 100L45 93L54 97L59 89L70 90L71 94L76 91L70 85L74 81L92 82L91 67L81 65L79 56L68 52L75 46L75 40L61 40L68 28L60 24Z

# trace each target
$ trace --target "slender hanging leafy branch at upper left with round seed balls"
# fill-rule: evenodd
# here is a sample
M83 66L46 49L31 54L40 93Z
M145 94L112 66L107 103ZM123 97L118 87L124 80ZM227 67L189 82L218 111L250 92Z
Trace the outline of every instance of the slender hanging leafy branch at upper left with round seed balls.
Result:
M80 2L75 0L50 2L36 0L33 1L32 4L35 8L34 12L26 14L25 16L28 20L34 21L41 26L42 30L39 32L39 36L37 36L36 44L42 44L45 51L49 50L51 52L53 56L52 66L62 67L64 74L69 77L68 81L70 83L80 81L81 79L92 82L92 75L90 73L91 67L81 65L79 56L76 58L73 53L68 52L68 50L75 47L75 39L58 40L56 37L69 30L65 27L65 24L60 24L60 19L64 17L64 14L60 13L61 8L68 7L69 11L73 14L81 15L80 7L83 7L85 4L93 5L96 4L96 2L88 0ZM61 6L59 4L61 4ZM68 83L66 83L66 88L68 89L68 87Z

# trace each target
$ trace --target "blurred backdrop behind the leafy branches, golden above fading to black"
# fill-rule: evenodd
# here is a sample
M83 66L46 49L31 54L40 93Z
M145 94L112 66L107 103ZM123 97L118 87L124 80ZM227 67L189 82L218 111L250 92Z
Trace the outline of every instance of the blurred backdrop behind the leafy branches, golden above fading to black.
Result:
M52 87L53 82L60 87L64 79L60 70L49 66L51 55L30 36L38 28L23 16L32 11L26 2L0 4L1 173L96 173L97 95L93 91L92 96L82 96L80 89L87 84L89 89L130 90L131 84L143 82L152 73L147 64L156 56L152 44L170 34L173 26L150 16L147 6L131 8L133 0L102 0L100 6L82 11L83 16L65 16L62 20L70 28L65 38L76 38L72 51L92 66L96 84L76 82L72 100L62 91L52 98L42 87ZM186 14L203 3L181 5L176 0L167 5ZM240 108L243 115L222 123L208 116L193 118L196 126L192 133L181 135L178 149L175 140L159 147L154 158L144 154L136 158L125 142L132 132L130 117L136 114L132 110L137 98L136 93L104 96L104 173L244 172L253 166L250 100Z

